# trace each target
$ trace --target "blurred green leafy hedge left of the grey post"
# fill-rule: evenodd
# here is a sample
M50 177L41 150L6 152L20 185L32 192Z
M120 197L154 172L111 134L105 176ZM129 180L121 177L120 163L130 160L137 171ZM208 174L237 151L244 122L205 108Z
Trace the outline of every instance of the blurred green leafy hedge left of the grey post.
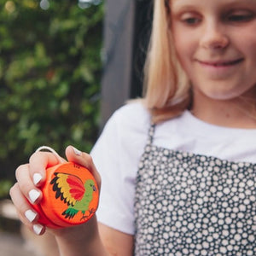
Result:
M0 179L41 145L89 151L98 132L103 6L0 0ZM1 186L1 184L0 184Z

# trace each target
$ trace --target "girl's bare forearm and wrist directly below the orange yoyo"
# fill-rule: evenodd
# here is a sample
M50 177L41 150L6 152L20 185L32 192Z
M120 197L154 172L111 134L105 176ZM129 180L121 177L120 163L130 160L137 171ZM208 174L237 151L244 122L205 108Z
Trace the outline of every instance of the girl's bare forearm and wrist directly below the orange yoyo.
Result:
M96 217L79 228L59 230L55 234L61 256L110 256L99 236Z

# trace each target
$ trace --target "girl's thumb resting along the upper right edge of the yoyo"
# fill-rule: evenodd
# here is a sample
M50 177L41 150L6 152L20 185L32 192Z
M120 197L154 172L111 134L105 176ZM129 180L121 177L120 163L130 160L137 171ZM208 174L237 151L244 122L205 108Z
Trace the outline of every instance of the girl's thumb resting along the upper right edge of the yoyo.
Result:
M82 152L79 149L74 148L73 146L68 146L66 148L66 155L69 162L74 162L88 169L93 177L95 177L98 187L101 187L101 176L99 172L97 172L96 166L94 165L90 154Z

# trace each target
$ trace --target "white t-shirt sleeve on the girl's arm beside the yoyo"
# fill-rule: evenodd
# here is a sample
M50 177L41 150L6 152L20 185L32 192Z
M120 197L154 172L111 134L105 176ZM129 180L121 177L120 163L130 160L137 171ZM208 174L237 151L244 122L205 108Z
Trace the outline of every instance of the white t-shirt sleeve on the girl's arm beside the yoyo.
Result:
M136 104L123 107L113 113L90 153L102 177L97 219L130 235L135 232L135 182L148 125L145 109Z

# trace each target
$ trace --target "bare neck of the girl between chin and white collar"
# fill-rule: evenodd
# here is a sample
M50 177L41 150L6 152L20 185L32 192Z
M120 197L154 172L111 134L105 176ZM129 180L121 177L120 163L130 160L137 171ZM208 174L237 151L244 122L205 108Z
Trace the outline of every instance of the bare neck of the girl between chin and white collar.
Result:
M214 100L195 90L191 113L212 125L256 129L255 98L241 96L231 100Z

